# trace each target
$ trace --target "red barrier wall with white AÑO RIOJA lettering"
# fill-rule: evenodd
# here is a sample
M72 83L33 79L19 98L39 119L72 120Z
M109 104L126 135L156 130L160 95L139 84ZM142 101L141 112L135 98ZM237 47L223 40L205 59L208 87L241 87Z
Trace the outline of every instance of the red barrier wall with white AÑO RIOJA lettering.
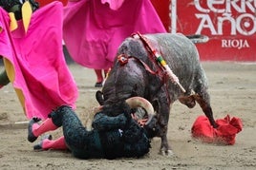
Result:
M171 31L204 34L206 61L256 61L256 0L172 0Z

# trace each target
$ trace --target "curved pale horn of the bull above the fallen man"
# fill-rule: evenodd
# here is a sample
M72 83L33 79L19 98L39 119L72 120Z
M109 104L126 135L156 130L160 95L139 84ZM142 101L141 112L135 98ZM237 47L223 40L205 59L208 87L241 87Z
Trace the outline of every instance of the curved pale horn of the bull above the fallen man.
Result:
M139 96L129 98L125 101L131 108L143 107L148 115L148 121L145 124L151 122L152 118L155 116L155 111L153 105L150 104L146 99Z

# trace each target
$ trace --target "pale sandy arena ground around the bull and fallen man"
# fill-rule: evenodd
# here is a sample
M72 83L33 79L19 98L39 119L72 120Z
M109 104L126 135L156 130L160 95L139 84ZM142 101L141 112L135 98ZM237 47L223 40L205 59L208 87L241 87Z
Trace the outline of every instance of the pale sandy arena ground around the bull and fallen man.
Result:
M150 154L141 159L77 160L67 151L35 152L27 142L28 121L11 85L0 89L0 169L255 169L256 167L256 63L203 63L215 119L227 114L243 120L234 145L216 145L191 138L191 126L203 114L177 102L170 115L168 138L175 155L158 154L160 139L152 141ZM3 68L3 66L0 66ZM96 77L91 69L70 65L79 88L76 112L81 119L96 106ZM53 138L61 135L53 132ZM38 140L39 141L39 140Z

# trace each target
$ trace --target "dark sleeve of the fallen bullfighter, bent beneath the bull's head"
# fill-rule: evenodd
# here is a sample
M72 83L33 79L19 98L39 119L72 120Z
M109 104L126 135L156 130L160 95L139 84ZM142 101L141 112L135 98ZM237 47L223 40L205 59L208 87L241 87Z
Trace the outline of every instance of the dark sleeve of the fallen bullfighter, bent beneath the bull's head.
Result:
M110 117L103 113L97 113L93 122L93 127L98 131L109 131L117 128L123 129L126 121L127 119L124 114Z

